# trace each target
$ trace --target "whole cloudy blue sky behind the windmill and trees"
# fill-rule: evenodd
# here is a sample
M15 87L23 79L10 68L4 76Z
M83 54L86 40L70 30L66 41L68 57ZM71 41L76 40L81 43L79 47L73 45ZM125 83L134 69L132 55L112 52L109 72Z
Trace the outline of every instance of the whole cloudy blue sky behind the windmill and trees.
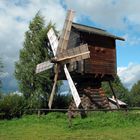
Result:
M117 41L117 73L131 89L140 80L140 1L139 0L0 0L0 76L5 92L16 91L14 64L23 48L30 21L40 11L46 25L56 23L61 31L68 9L75 11L74 22L107 30L125 38Z

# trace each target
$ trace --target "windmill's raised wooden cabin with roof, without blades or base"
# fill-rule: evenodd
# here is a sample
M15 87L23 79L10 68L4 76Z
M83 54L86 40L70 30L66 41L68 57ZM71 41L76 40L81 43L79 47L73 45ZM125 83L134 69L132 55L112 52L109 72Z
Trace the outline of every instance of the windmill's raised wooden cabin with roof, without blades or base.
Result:
M90 51L90 58L70 63L73 79L113 80L117 73L116 40L124 39L103 29L72 23L67 49L87 44Z

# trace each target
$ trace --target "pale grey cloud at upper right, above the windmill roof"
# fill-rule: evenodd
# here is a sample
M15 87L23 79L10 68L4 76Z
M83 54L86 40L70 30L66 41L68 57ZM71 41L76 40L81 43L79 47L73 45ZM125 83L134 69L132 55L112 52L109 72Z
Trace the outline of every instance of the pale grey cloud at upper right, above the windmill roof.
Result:
M140 25L139 0L66 0L66 3L79 15L88 15L104 27L124 29L128 23Z

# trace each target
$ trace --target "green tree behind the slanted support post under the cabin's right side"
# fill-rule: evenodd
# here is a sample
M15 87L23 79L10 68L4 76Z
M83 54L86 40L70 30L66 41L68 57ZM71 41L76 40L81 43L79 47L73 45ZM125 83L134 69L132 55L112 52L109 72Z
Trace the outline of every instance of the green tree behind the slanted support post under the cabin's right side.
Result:
M117 98L126 102L129 105L130 104L129 91L123 86L119 76L117 76L115 80L112 82L112 86L114 92L116 93ZM102 87L108 96L111 97L113 95L108 83L106 82L102 83Z

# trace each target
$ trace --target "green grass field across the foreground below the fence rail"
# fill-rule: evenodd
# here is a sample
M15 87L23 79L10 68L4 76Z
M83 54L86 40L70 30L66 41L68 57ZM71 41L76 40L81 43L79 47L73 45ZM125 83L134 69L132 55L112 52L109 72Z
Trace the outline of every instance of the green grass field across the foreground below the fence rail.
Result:
M63 113L0 121L0 140L139 140L140 113L93 112L68 127Z

